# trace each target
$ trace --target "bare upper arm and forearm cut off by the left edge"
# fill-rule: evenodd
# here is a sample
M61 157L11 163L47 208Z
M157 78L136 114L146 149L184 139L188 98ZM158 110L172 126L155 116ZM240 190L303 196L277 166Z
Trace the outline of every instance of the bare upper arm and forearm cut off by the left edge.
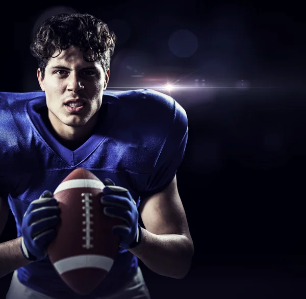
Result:
M0 235L6 225L9 214L8 204L0 197ZM14 270L30 264L20 250L21 237L0 243L0 278Z

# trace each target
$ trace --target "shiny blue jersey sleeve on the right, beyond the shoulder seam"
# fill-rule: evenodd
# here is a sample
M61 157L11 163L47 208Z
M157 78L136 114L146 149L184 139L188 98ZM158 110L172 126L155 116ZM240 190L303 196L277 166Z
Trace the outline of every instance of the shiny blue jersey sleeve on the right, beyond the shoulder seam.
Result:
M174 179L185 156L188 139L188 118L181 105L175 102L173 123L152 169L147 188L140 193L144 199L164 190Z

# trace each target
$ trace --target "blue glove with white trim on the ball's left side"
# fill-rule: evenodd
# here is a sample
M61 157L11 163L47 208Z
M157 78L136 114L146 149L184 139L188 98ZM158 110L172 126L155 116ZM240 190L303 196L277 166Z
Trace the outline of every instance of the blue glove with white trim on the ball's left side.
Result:
M55 239L60 223L59 203L50 191L44 191L25 211L21 225L20 248L29 261L42 260L47 256L47 246Z

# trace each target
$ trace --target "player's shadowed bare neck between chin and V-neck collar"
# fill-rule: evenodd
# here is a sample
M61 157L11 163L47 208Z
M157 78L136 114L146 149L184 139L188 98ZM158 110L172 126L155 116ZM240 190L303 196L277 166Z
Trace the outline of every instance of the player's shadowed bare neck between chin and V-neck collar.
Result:
M74 151L79 148L92 134L97 122L96 113L85 126L72 127L62 123L48 111L49 124L52 127L55 138L69 150Z

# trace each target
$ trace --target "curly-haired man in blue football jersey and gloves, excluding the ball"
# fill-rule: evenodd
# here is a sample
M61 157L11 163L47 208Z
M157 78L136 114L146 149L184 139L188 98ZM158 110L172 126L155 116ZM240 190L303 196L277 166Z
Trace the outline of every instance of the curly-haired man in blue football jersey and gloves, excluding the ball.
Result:
M105 91L115 41L91 15L51 17L31 44L42 91L0 93L0 218L8 201L17 224L17 238L0 244L0 277L14 271L7 299L84 298L46 255L60 223L52 192L75 168L105 182L104 213L126 223L113 228L114 265L86 298L149 298L138 258L163 276L189 271L194 248L175 177L187 116L156 91Z

